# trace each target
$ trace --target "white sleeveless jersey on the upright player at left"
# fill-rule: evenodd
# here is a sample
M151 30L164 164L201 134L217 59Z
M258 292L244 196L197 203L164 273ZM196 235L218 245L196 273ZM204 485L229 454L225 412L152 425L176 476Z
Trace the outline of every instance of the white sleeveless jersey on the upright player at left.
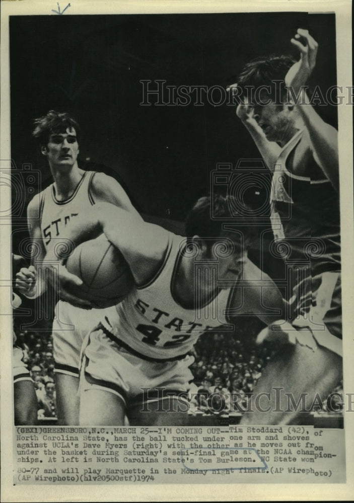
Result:
M70 219L80 218L87 206L95 204L90 192L91 181L96 172L86 171L73 194L65 201L55 197L54 184L49 185L41 193L40 222L42 239L47 249L52 239L60 239L65 235L64 229Z

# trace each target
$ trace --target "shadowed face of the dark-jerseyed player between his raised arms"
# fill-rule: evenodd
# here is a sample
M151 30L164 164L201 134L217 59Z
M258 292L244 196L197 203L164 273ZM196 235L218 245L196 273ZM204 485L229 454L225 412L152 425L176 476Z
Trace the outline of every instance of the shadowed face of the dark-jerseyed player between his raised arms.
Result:
M266 103L269 97L260 93L260 102ZM285 145L294 135L292 108L287 105L255 105L254 117L262 128L268 141L276 141Z

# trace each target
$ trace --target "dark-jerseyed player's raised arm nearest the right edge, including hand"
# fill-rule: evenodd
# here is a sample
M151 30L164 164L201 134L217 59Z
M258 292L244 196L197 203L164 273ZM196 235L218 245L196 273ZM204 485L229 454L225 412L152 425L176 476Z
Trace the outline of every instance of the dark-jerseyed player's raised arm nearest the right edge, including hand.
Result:
M295 106L309 132L313 156L336 190L339 190L338 138L334 127L326 124L306 96L305 84L316 65L318 44L307 30L299 29L292 44L300 51L300 60L288 71L286 86L299 96Z

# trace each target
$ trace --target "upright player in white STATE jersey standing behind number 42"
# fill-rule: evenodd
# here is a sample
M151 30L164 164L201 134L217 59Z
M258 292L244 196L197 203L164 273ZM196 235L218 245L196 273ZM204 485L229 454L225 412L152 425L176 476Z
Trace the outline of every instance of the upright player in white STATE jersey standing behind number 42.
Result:
M48 160L53 183L36 195L27 209L34 244L32 266L17 275L17 285L27 297L38 296L46 289L45 281L37 284L36 268L42 264L48 246L65 237L70 220L80 221L100 201L117 205L138 218L116 180L79 168L79 135L78 123L66 113L51 110L35 120L33 136ZM52 333L58 423L65 425L78 423L80 349L87 331L97 323L97 310L88 310L92 304L70 292L70 285L81 284L78 277L60 268L55 289L61 300L55 307Z

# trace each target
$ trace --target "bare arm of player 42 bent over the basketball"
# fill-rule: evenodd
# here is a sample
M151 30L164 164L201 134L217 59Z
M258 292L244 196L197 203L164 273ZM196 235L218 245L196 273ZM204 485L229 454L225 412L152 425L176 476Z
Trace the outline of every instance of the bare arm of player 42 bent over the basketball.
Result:
M144 222L135 212L110 203L98 203L80 222L70 222L66 238L78 245L102 232L121 251L138 285L150 280L159 270L168 246L168 231ZM52 257L51 251L46 259Z

